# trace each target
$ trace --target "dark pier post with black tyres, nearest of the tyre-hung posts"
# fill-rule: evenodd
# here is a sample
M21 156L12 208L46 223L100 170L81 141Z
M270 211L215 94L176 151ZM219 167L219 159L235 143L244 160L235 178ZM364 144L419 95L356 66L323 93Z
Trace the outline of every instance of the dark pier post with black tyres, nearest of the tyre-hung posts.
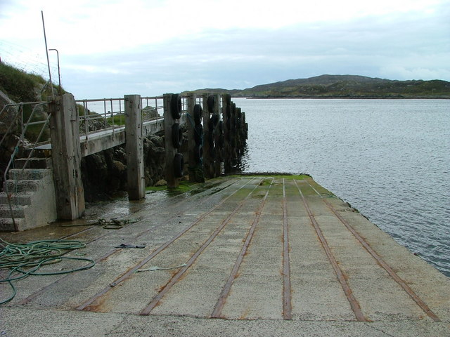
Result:
M181 117L181 97L174 93L164 95L164 135L166 152L166 181L167 187L179 186L179 178L183 176L184 159L177 151L181 147L183 133L179 125Z

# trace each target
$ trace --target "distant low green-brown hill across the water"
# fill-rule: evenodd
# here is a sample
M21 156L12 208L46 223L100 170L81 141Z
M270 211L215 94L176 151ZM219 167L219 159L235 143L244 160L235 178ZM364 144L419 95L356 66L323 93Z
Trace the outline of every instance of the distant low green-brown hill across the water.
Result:
M321 75L262 84L244 90L199 89L248 98L450 98L450 82L397 81L356 75Z

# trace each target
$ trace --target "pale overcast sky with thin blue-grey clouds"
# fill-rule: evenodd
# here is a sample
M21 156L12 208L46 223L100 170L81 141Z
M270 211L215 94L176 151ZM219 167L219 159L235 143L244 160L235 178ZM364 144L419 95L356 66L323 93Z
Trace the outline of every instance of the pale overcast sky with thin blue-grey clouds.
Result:
M48 78L41 11L76 99L321 74L450 81L450 0L0 0L1 60Z

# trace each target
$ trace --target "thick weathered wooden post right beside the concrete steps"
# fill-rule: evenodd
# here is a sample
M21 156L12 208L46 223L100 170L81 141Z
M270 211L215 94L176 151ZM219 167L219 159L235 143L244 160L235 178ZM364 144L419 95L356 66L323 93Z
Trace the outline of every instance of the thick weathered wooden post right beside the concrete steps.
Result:
M58 219L74 220L84 214L79 116L70 93L57 96L49 105L51 158Z

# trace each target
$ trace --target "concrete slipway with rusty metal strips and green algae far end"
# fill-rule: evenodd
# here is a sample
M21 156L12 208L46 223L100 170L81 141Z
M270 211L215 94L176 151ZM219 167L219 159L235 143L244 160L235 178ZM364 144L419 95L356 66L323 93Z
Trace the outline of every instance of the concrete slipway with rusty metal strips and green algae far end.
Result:
M309 177L217 178L89 212L139 221L2 234L77 239L68 256L96 261L17 282L2 336L450 336L450 279Z

